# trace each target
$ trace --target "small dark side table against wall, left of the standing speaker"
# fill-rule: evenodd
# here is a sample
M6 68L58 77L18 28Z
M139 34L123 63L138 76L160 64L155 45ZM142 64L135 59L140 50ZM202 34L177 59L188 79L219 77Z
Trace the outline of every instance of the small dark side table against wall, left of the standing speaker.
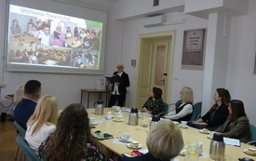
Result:
M89 103L89 94L90 93L98 93L99 94L99 100L102 98L102 93L106 94L106 107L108 106L108 97L111 92L111 90L106 90L106 89L81 89L81 104L83 103L84 99L84 93L88 93L88 103Z

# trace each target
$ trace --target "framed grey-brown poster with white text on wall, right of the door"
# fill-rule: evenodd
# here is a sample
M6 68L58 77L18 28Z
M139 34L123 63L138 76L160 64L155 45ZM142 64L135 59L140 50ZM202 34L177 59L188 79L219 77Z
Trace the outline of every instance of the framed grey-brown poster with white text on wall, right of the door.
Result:
M206 29L184 31L182 69L203 69L205 35Z

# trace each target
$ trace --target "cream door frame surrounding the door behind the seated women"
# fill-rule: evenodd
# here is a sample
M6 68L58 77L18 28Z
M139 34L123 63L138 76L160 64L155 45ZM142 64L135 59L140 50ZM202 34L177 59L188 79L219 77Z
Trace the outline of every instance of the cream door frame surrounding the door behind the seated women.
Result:
M139 74L140 74L140 68L141 68L141 65L140 65L140 62L141 62L141 47L142 47L142 39L152 39L152 38L167 38L169 37L171 39L170 41L170 51L169 51L169 57L168 57L168 62L170 62L168 64L168 89L167 89L167 100L166 102L170 102L170 98L171 98L171 80L172 80L172 71L173 71L173 55L174 55L174 40L175 40L175 31L174 30L171 30L171 31L164 31L164 32L155 32L155 33L148 33L148 34L139 34L138 36L138 48L137 48L137 68L136 68L136 79L135 79L135 95L133 96L133 101L134 101L134 105L135 107L138 106L138 101L137 101L137 98L138 98L138 95L139 95L139 81L140 81L140 77L139 77ZM140 108L140 107L138 107Z

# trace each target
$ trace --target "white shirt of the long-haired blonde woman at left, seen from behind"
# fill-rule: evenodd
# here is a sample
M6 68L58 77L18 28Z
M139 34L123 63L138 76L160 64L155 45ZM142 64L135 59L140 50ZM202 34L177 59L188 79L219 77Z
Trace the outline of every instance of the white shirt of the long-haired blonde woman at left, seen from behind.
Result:
M34 153L38 155L38 147L56 129L56 126L49 125L49 123L44 124L33 136L31 136L33 128L34 126L27 124L25 140L28 142L31 149L34 150Z

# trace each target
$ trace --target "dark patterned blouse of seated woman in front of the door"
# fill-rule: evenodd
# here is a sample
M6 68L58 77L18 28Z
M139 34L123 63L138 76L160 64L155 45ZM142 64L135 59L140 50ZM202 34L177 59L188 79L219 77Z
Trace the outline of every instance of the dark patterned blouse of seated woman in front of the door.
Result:
M143 107L145 107L148 111L151 111L154 115L160 114L164 111L164 101L162 99L153 101L153 98L150 97L144 103Z

